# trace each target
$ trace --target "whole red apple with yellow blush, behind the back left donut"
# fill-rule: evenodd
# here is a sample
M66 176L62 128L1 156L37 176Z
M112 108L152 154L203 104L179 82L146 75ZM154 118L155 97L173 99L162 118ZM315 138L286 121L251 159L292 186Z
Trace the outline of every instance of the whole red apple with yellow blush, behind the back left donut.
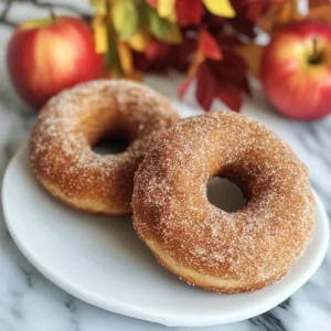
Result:
M9 42L7 61L18 93L34 107L66 87L98 78L103 67L89 28L68 17L20 25Z

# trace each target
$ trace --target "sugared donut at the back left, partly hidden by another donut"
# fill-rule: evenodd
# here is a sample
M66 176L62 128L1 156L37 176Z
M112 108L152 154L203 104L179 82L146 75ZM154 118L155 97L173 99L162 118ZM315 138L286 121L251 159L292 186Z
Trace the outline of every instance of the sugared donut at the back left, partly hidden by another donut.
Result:
M43 186L66 204L88 213L131 214L134 174L150 145L178 119L166 97L141 84L84 83L44 106L30 140L30 163ZM109 135L125 136L127 149L94 152Z

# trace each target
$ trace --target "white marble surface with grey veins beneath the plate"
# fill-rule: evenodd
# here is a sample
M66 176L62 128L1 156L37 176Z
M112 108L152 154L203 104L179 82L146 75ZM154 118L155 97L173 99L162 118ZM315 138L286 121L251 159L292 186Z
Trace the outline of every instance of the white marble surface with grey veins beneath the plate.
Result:
M67 1L68 2L68 1ZM77 1L76 1L77 2ZM83 2L83 1L82 1ZM85 2L85 1L84 1ZM3 2L0 2L0 11ZM81 10L86 10L81 7ZM28 4L15 4L10 18L17 21L44 15L45 11ZM12 29L0 25L0 178L10 158L29 137L35 113L29 109L12 89L6 70L6 45ZM181 77L148 79L174 99ZM181 107L194 107L189 98ZM292 121L276 114L257 87L247 100L244 114L261 120L282 136L308 164L311 184L331 216L331 116L321 121ZM20 207L18 205L18 207ZM166 330L166 327L110 313L84 303L45 279L23 257L10 238L0 213L0 331L109 331ZM173 328L174 330L189 330ZM291 298L279 307L254 319L203 331L250 330L330 330L331 329L331 250L324 263Z

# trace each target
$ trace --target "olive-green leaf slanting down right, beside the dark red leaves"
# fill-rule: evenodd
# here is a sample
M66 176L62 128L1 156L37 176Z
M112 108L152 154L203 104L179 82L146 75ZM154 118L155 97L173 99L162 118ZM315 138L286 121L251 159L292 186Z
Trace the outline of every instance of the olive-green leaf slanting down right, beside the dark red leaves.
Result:
M146 19L150 33L160 41L169 44L182 42L182 34L178 25L164 18L160 18L156 10L146 6Z

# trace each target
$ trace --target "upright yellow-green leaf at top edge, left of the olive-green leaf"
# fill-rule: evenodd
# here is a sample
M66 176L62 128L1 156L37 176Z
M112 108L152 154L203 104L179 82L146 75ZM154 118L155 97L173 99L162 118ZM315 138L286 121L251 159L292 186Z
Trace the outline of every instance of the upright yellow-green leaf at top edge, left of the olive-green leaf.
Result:
M128 41L139 29L139 11L137 1L118 0L111 9L114 28L122 41Z

